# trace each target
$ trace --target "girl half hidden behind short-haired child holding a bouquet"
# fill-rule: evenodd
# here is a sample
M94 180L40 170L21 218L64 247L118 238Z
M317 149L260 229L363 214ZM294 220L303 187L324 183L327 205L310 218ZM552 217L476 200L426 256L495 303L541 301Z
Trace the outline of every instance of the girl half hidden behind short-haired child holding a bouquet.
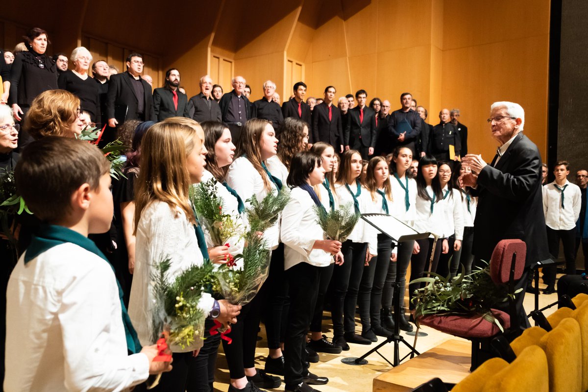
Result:
M310 151L320 155L321 166L325 169L325 180L322 184L315 186L315 192L323 207L328 211L334 211L339 208L339 199L336 197L335 191L335 173L333 172L333 166L335 166L336 162L335 149L328 143L316 142L312 145ZM335 346L326 338L326 335L322 334L325 295L329 289L334 266L335 264L329 264L328 267L320 269L319 292L316 296L315 313L312 316L312 321L310 321L309 347L319 353L339 354L341 352L341 347Z

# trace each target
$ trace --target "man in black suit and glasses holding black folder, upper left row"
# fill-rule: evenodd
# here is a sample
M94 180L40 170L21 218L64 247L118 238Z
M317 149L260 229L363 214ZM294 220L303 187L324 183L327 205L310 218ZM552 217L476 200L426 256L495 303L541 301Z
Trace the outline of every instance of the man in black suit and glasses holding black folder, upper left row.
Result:
M126 58L126 72L112 75L106 97L108 126L116 128L115 106L126 106L126 120L156 121L149 83L141 79L143 56L131 53Z

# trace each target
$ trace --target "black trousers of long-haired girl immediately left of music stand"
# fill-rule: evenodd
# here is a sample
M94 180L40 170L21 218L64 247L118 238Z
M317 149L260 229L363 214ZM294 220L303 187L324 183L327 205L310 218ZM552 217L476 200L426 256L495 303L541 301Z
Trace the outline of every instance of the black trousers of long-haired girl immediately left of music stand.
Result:
M355 332L355 306L367 249L365 242L345 241L341 248L345 262L333 270L331 319L336 337L344 331Z

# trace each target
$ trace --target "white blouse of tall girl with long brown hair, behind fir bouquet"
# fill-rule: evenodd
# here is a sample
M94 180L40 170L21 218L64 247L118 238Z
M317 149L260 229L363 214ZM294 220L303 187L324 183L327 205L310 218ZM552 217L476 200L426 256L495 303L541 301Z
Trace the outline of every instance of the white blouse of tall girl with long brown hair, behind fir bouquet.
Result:
M263 186L262 177L259 175L258 171L255 170L252 163L249 162L249 159L244 156L240 156L231 163L229 166L229 172L226 174L226 182L230 187L235 189L235 192L237 192L241 199L243 199L246 208L251 206L247 201L251 196L255 196L261 201L268 195L268 192ZM271 184L273 189L278 192L276 186L273 185L273 183ZM284 184L284 186L286 185ZM269 229L263 233L263 238L268 243L270 249L276 249L278 247L280 239L279 219L275 225L269 227Z

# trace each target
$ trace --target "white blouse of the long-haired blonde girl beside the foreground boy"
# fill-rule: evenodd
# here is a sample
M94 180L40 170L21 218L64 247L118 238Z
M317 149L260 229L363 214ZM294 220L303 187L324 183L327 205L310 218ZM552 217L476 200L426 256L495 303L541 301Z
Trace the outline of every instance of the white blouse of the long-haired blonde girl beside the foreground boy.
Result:
M173 282L176 276L193 264L201 266L204 257L198 247L198 239L192 223L183 210L171 207L168 203L155 200L143 209L136 235L135 273L129 299L129 316L137 331L142 346L149 346L153 341L152 311L153 293L151 274L153 264L171 259L168 280ZM202 293L198 304L206 316L212 310L214 299L208 293ZM191 346L171 346L174 353L187 353L202 346L202 339L195 339Z

